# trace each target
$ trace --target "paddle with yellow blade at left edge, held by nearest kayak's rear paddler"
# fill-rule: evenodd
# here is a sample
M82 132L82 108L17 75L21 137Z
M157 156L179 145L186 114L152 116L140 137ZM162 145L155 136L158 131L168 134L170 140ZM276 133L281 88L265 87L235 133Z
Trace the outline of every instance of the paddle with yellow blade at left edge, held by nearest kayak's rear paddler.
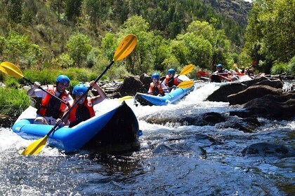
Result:
M10 76L13 76L15 78L23 78L24 80L26 80L28 83L34 85L34 83L25 78L25 76L22 75L22 71L20 71L20 69L18 68L18 66L15 66L14 64L12 64L11 62L2 62L0 64L0 70ZM59 97L56 97L55 94L51 94L50 92L48 92L47 90L45 90L43 87L39 86L39 89L43 90L44 92L50 94L52 97L54 97L55 99L58 99L60 102L62 102L63 104L67 104L65 101L63 101L62 99L60 99Z

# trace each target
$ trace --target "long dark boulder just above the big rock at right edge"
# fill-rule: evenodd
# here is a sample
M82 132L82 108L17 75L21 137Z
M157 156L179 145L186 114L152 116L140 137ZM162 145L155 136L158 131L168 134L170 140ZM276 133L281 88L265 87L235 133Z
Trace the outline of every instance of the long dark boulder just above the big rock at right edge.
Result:
M253 85L236 94L230 94L228 96L228 102L230 102L230 105L245 104L252 99L263 97L265 94L280 95L282 94L282 90L268 85Z

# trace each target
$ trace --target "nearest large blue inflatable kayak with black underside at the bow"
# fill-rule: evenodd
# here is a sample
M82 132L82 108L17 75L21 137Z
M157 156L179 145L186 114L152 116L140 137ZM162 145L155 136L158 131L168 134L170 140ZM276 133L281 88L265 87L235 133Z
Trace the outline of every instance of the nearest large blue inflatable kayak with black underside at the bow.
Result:
M34 118L19 118L11 129L24 139L40 139L53 127L33 122ZM47 141L49 146L59 148L66 153L79 149L108 151L112 147L114 148L111 151L117 151L115 148L128 151L131 148L132 150L138 148L140 133L136 116L130 107L122 102L115 109L94 116L72 128L58 127L49 135Z

